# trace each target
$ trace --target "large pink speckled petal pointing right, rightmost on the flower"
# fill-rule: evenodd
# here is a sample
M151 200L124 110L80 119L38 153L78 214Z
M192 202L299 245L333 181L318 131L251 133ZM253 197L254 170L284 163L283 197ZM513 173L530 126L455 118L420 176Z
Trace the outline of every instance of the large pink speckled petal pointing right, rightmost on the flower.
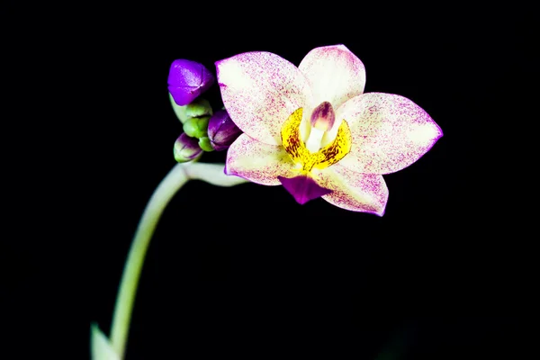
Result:
M350 153L339 165L358 173L389 174L401 170L422 157L443 136L427 112L396 94L358 95L338 109L336 119L347 120L353 138Z

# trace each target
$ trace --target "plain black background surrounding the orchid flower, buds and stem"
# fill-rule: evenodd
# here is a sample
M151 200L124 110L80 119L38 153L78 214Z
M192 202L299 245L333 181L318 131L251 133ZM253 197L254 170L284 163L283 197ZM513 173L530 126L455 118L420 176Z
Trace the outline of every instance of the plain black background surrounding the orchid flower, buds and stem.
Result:
M365 64L365 92L410 98L444 137L384 176L382 218L321 199L299 205L281 186L186 184L152 239L127 358L375 359L400 339L407 359L530 354L530 10L257 6L47 8L64 15L14 41L15 60L28 61L14 97L51 96L16 108L41 115L23 121L31 150L17 166L30 172L11 176L24 192L0 253L3 347L85 359L91 322L108 333L139 216L175 165L174 59L215 73L216 60L240 52L298 65L342 43ZM220 106L217 85L204 97Z

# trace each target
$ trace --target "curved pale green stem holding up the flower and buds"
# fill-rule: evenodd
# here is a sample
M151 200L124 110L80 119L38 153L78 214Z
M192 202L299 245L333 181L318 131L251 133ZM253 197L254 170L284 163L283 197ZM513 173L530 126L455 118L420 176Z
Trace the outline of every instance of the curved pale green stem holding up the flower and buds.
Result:
M179 163L165 176L150 197L139 220L139 226L131 243L130 254L124 266L120 289L112 317L111 344L120 359L124 357L130 330L131 312L137 293L140 271L146 256L150 238L167 203L188 180L202 180L218 186L247 183L237 176L224 174L224 166L206 163Z

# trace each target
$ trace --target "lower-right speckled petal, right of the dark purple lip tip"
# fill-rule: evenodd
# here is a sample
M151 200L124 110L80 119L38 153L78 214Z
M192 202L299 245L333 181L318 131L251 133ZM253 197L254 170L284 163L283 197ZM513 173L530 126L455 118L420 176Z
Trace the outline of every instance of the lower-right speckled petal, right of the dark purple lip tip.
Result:
M318 170L320 186L332 190L323 195L327 202L350 211L383 216L388 201L388 187L383 175L360 174L339 164Z

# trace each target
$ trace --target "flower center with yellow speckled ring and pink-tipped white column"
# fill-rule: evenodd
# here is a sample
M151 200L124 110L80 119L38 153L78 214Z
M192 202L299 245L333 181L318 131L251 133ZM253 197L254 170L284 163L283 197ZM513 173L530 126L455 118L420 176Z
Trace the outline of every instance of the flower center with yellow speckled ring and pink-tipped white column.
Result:
M334 121L332 105L321 103L311 114L311 131L305 143L300 139L299 131L302 107L284 122L281 131L282 143L302 173L311 172L313 167L323 169L336 164L351 150L351 131L345 120L341 121L336 138L328 145L320 146L323 135L332 128Z

